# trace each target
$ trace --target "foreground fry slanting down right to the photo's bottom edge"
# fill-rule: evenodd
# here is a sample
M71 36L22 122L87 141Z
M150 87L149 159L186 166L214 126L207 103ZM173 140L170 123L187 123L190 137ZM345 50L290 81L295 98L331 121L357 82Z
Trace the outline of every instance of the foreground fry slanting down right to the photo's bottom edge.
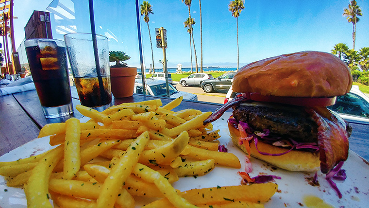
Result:
M195 205L192 205L186 199L178 195L168 180L157 171L137 163L133 169L133 173L147 182L154 183L176 208L196 208Z

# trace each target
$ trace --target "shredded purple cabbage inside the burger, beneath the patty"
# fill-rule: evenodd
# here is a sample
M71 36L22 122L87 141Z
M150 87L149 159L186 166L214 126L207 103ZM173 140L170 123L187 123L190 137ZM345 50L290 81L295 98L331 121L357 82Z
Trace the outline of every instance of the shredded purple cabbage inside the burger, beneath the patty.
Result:
M273 144L274 142L280 141L280 138L271 137L269 135L269 133L270 133L269 129L264 129L263 132L253 131L252 128L249 126L249 124L247 124L245 122L242 122L242 121L237 121L234 118L229 118L228 122L231 123L236 129L238 129L238 124L241 124L243 129L246 131L246 134L248 135L248 137L253 137L254 143L255 143L255 148L261 155L281 156L281 155L284 155L284 154L292 151L293 149L298 149L298 150L303 149L303 150L308 151L308 152L316 152L316 151L319 150L319 147L318 147L317 143L297 142L297 141L289 138L288 142L290 142L292 144L292 147L290 149L288 149L287 151L285 151L283 153L278 153L278 154L270 154L270 153L261 152L257 147L257 143L258 143L259 139L262 139L263 142L265 142L265 143Z

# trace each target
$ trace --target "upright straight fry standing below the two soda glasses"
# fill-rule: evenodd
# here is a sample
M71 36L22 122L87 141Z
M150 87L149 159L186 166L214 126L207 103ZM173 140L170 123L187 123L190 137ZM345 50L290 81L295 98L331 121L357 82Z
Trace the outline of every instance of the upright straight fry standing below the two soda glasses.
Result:
M66 139L64 142L64 175L71 179L81 167L80 155L81 124L80 120L70 118L66 121Z

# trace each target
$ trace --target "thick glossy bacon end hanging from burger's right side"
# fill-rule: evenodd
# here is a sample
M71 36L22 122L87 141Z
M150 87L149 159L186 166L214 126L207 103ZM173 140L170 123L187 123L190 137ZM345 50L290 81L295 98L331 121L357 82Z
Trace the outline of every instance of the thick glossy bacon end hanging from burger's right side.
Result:
M349 156L349 135L346 126L325 107L307 111L319 126L320 171L329 173L340 161L345 161Z

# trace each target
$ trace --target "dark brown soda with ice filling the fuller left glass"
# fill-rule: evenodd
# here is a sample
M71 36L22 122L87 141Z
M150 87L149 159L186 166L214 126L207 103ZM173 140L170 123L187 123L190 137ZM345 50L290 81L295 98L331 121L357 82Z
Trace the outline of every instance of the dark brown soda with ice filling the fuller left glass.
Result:
M34 86L41 105L55 107L71 102L66 48L26 47Z

